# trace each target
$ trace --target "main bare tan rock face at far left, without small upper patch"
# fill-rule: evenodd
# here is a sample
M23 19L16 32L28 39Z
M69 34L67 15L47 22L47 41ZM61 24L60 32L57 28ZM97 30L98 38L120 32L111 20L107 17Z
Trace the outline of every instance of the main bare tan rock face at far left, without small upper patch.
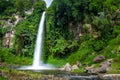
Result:
M6 32L3 34L2 37L2 46L6 48L12 48L14 43L14 27L17 25L19 21L21 21L23 18L20 18L18 15L14 16L14 21L8 19L8 20L1 20L3 23L2 28L6 29Z

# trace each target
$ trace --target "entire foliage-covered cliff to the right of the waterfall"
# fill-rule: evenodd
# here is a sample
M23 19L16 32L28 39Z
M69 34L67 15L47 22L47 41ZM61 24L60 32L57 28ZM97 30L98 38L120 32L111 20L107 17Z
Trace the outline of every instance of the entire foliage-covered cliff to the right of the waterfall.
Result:
M120 5L117 2L54 0L46 12L46 54L71 63L92 64L97 55L119 62L116 47L120 36Z

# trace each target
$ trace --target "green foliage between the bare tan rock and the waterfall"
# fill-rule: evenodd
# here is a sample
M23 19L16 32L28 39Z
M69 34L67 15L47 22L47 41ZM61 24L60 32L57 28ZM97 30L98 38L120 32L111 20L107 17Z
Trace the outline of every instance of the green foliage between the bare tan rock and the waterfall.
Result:
M15 54L33 56L34 44L41 14L45 10L43 1L34 4L34 11L15 27Z

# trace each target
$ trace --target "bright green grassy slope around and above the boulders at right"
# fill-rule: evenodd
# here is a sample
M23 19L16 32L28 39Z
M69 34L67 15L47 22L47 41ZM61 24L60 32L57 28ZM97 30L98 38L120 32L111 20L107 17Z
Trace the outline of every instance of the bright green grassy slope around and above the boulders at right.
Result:
M120 36L111 39L106 43L107 45L104 46L101 50L95 51L94 48L90 47L92 41L85 41L81 43L79 50L71 53L71 55L67 58L67 61L74 64L76 61L82 63L82 67L85 67L84 64L91 66L95 64L93 59L98 55L105 56L105 60L113 59L112 62L112 69L108 71L108 73L119 73L120 74ZM99 45L97 45L99 46ZM98 67L100 63L95 64L95 67ZM78 70L77 72L83 71L83 68Z

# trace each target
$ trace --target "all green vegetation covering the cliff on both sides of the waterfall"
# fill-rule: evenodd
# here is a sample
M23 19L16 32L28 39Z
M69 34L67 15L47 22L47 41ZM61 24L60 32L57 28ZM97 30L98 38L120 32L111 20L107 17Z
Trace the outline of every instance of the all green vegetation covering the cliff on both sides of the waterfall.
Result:
M103 55L105 59L112 58L113 65L116 65L112 66L113 69L119 70L119 3L119 0L53 0L46 9L42 0L1 0L0 60L6 61L9 57L6 54L20 58L33 56L39 20L46 10L45 62L61 66L66 62L74 64L79 61L91 65L95 56ZM31 8L34 8L32 14L25 14ZM10 27L4 27L3 20L14 22L13 14L20 15L23 20L13 28L13 47L4 48L3 37Z

